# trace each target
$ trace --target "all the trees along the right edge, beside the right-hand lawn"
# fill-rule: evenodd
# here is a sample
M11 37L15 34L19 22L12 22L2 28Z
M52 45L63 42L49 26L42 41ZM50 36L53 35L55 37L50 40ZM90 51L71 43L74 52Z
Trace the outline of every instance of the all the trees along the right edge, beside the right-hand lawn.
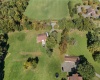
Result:
M92 53L93 59L100 63L100 28L87 33L87 48Z

